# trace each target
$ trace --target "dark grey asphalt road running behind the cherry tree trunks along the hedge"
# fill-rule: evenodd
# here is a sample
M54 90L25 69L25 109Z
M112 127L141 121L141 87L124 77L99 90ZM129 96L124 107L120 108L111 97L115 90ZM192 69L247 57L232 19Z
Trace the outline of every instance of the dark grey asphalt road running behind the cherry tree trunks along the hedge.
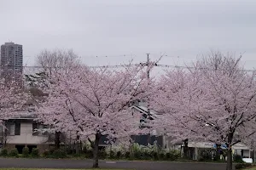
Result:
M100 167L130 168L136 170L224 170L221 163L185 163L156 161L100 161ZM0 167L34 167L34 168L90 168L90 160L52 160L0 158Z

